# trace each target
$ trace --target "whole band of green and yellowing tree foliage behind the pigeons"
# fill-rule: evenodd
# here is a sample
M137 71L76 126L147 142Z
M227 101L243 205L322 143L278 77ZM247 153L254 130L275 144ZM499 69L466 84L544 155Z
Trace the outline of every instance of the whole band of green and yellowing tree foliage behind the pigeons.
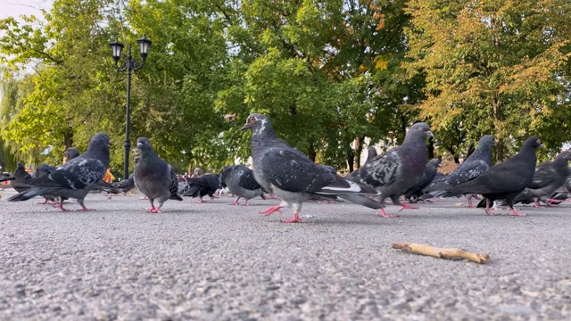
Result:
M367 141L401 143L416 120L459 158L484 134L501 139L500 159L530 134L557 149L569 140L570 6L56 0L42 20L0 21L4 159L59 163L104 131L122 170L127 77L108 43L133 45L140 62L143 34L153 45L133 73L130 140L148 136L181 172L248 161L239 128L252 112L338 169L359 167Z

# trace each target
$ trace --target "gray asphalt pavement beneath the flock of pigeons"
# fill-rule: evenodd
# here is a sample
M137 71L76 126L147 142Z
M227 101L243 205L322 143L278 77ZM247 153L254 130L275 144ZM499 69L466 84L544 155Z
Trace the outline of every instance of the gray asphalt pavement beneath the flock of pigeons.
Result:
M0 192L0 319L563 320L571 318L571 203L488 217L463 200L399 218L349 203L230 206L87 196L94 212L6 202ZM206 198L208 199L208 198ZM76 202L67 202L78 209ZM387 213L396 213L388 206ZM484 265L393 242L489 253Z

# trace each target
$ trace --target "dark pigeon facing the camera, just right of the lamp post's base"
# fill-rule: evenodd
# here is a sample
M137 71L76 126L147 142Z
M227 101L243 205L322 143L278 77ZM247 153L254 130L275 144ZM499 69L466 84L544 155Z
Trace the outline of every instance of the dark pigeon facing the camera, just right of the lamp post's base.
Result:
M135 184L151 202L150 213L161 213L161 207L167 200L182 201L178 195L178 177L175 170L153 151L147 137L137 138L137 148L141 151L135 167ZM157 201L157 206L154 206Z

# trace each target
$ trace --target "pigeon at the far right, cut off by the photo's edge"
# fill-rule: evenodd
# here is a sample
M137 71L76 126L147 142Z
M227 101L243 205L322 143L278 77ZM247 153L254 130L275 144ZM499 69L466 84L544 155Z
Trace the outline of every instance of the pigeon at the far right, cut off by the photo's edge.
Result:
M571 151L561 152L553 161L546 161L535 169L532 184L519 193L514 199L518 202L534 202L534 207L539 207L538 201L550 206L550 195L561 187L569 176L569 161ZM559 201L558 201L559 202Z

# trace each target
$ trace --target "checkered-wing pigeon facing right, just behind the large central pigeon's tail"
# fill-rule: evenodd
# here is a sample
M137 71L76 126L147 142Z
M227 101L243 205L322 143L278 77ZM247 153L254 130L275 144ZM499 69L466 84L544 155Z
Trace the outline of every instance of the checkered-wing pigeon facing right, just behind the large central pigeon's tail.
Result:
M401 210L416 210L418 207L401 203L400 197L410 187L417 185L426 169L426 137L433 137L430 126L418 122L410 127L404 142L388 152L384 152L352 175L355 182L371 186L380 193L377 200L384 204L386 198L391 198L393 204L401 205ZM379 215L387 215L381 208Z

